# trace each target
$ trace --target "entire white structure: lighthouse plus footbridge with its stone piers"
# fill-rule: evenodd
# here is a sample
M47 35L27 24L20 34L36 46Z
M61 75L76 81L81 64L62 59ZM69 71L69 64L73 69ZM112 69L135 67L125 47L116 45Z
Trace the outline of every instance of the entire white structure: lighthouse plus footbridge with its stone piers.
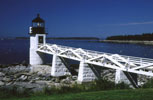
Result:
M137 75L153 76L153 59L110 54L46 43L45 21L39 14L32 20L30 34L30 64L43 64L43 54L53 55L52 76L70 75L64 58L80 62L78 82L93 81L100 76L99 67L116 70L115 82L126 82L137 85ZM96 66L95 66L96 65ZM97 67L99 66L99 67Z

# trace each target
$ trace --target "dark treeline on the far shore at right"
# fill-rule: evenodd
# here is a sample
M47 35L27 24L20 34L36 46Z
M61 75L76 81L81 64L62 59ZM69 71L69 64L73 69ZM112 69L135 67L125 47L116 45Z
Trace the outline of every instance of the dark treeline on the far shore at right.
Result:
M153 41L153 33L143 33L141 35L118 35L107 37L106 40L137 40Z

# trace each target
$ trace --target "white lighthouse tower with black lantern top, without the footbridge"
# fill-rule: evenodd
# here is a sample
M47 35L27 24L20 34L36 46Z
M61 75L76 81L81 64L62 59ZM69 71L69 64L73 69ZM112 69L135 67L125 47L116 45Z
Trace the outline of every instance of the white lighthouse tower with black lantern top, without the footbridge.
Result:
M37 17L32 20L32 26L29 27L30 34L30 52L29 52L29 63L30 65L43 64L44 54L37 52L39 44L46 43L46 32L45 32L45 21Z

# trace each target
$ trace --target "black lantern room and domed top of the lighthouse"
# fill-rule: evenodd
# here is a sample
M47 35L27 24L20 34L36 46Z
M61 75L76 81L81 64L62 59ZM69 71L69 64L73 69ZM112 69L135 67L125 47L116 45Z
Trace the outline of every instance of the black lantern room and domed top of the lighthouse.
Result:
M46 34L45 32L45 21L40 18L40 15L37 14L37 17L32 20L31 35L34 34Z

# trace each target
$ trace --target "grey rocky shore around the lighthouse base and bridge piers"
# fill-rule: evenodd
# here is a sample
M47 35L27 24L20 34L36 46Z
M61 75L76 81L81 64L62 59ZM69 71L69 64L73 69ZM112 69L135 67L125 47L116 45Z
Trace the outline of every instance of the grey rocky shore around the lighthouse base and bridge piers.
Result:
M77 69L76 69L77 70ZM43 91L44 88L71 86L77 83L77 75L52 77L50 65L14 65L0 68L0 88L11 89L16 87L19 92L24 90ZM115 70L102 69L101 76L114 82ZM147 82L149 77L139 76L139 84Z

